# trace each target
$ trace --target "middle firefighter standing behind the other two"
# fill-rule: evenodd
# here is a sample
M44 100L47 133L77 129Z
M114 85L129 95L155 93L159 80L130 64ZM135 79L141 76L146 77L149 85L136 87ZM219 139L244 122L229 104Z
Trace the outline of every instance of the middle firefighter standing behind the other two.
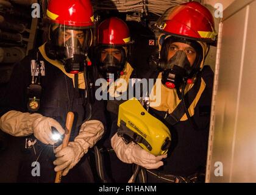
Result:
M117 129L118 98L126 96L130 85L129 80L136 78L136 71L129 63L132 40L127 24L119 18L111 17L102 21L98 27L98 47L96 48L96 64L99 74L107 82L107 88L102 91L108 94L106 101L107 129L105 134L103 151L108 159L108 177L112 182L127 182L132 175L132 166L120 161L110 144L110 137ZM124 88L119 86L125 86ZM115 109L116 108L116 109ZM122 174L120 174L122 172ZM102 174L101 174L102 175ZM109 179L109 178L108 178Z

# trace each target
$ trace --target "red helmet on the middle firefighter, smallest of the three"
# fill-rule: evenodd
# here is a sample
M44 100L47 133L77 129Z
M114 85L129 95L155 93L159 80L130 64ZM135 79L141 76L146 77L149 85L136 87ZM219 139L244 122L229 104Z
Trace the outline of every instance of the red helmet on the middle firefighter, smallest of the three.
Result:
M130 43L130 31L123 20L112 17L99 24L98 43L124 45Z

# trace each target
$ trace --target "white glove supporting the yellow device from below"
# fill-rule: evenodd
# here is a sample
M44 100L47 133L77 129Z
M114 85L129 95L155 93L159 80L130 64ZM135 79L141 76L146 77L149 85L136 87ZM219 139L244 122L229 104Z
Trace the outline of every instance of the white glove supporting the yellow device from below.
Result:
M163 166L161 160L167 157L167 154L155 157L133 142L126 144L117 133L112 137L111 145L121 161L129 164L135 163L146 169L157 169Z

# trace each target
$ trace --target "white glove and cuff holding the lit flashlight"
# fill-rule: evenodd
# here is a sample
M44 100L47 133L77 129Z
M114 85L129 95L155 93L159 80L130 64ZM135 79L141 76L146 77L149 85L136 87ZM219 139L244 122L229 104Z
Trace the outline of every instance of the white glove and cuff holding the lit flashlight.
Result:
M15 137L22 137L34 133L35 137L44 144L54 144L52 129L55 127L60 134L65 130L59 122L52 118L44 117L38 113L22 113L11 110L0 118L0 129Z

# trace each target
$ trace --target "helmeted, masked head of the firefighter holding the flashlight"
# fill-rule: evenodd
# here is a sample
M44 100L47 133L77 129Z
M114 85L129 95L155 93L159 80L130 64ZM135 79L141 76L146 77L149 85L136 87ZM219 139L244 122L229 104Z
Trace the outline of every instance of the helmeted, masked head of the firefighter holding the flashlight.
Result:
M46 54L61 60L67 73L79 73L93 41L90 1L50 1L46 15L50 23Z

